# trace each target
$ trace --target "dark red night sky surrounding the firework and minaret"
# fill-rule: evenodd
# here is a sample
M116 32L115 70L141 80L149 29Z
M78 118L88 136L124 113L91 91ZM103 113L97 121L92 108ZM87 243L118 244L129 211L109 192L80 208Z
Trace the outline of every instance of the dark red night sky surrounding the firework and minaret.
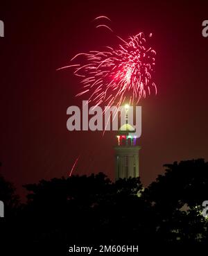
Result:
M44 3L43 3L44 2ZM80 84L67 65L80 51L116 44L92 19L106 15L123 38L153 33L157 96L141 101L139 144L145 185L165 163L208 159L208 19L205 1L1 1L1 173L19 188L75 173L114 173L114 133L67 130L67 108L79 105Z

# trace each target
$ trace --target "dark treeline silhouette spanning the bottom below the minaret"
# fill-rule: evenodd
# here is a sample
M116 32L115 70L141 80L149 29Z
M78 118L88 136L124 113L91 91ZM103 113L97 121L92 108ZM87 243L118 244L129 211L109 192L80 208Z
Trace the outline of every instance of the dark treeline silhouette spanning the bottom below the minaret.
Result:
M111 182L103 173L41 180L24 185L25 204L0 177L1 244L28 248L28 255L40 248L66 255L73 244L206 245L202 202L208 200L208 163L199 159L164 167L164 175L146 189L139 178Z

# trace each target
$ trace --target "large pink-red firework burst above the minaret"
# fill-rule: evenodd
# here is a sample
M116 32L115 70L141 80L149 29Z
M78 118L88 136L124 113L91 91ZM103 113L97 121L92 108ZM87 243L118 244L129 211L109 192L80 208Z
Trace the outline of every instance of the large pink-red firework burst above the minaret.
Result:
M105 16L96 19L108 19ZM107 27L98 25L98 27ZM109 28L112 31L111 28ZM152 34L149 35L151 37ZM87 94L88 101L100 105L122 105L128 101L130 105L138 103L152 89L157 94L157 88L152 79L156 52L146 44L144 33L139 33L123 40L122 44L113 49L107 46L106 51L89 51L78 53L71 61L80 59L80 64L73 67L73 73L80 76L83 91L76 96Z

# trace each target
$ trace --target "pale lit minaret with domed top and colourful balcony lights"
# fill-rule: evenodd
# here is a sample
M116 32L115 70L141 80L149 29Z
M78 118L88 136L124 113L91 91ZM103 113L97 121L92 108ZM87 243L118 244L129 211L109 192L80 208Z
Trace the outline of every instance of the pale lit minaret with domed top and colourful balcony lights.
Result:
M128 123L128 105L125 105L125 124L117 133L115 149L115 180L139 177L139 149L135 129Z

